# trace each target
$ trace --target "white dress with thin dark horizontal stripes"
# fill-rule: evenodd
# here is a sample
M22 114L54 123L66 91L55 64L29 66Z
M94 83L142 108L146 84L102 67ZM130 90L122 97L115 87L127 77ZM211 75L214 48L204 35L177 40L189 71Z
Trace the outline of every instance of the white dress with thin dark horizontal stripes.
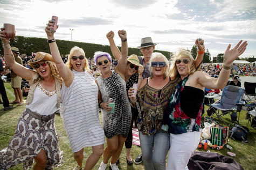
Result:
M60 115L73 152L86 146L96 146L105 142L100 124L98 107L98 86L93 76L87 72L74 71L70 87L63 83Z

